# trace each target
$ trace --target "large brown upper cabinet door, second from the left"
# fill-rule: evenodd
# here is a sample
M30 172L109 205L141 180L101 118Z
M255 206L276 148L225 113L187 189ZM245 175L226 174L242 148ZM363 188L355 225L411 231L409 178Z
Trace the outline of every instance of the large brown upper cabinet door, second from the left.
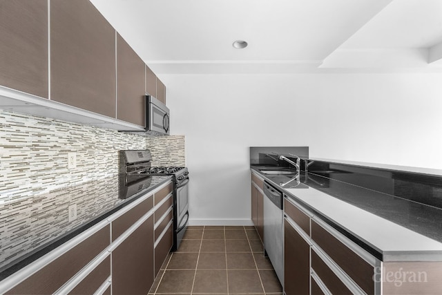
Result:
M115 30L88 0L50 1L50 99L115 118Z

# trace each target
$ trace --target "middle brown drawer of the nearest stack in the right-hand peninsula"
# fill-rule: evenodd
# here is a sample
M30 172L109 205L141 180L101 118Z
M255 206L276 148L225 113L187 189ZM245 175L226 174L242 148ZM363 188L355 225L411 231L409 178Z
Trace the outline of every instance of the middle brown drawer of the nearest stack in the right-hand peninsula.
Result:
M329 269L315 251L311 251L311 268L316 272L332 294L352 294L352 292L336 276L336 274L334 274L332 269ZM314 280L312 280L312 282L313 281Z

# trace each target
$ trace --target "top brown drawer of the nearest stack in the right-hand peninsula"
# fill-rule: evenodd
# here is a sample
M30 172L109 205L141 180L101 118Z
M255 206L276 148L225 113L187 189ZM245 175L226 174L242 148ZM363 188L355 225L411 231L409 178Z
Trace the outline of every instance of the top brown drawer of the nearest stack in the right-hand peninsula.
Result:
M311 220L311 238L367 294L374 294L374 267Z

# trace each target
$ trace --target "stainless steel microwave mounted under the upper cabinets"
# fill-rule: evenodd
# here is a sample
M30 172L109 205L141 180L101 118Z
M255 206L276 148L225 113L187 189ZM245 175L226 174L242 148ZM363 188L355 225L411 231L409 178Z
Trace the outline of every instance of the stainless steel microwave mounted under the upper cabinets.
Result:
M146 131L169 135L169 108L152 95L146 95Z

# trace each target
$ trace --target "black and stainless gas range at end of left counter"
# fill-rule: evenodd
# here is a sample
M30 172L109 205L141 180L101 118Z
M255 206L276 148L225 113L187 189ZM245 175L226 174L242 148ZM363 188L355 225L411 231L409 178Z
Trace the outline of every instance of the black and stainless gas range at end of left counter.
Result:
M137 190L142 190L153 175L172 175L172 251L176 251L189 224L189 170L182 166L152 166L151 160L152 155L149 150L120 151L120 198L128 198Z

